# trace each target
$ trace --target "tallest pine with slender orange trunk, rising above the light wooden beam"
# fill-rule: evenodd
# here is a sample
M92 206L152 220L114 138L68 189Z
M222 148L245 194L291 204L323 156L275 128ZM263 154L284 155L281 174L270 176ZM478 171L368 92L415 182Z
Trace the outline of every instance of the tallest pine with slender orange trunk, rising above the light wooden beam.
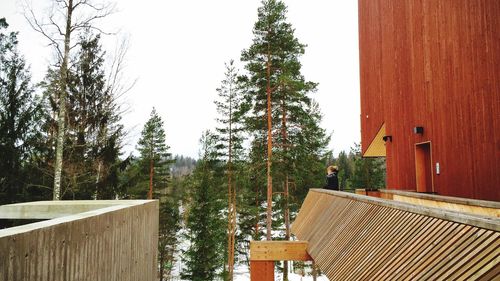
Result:
M271 240L272 221L272 153L273 153L273 116L277 106L273 103L273 92L279 84L279 74L283 67L279 53L286 45L289 25L284 22L286 8L282 2L266 0L258 9L258 20L253 28L253 44L241 55L249 72L247 83L247 100L250 103L252 117L247 119L247 127L254 134L254 142L267 142L266 159L267 174L267 219L266 237ZM263 138L265 136L265 139Z

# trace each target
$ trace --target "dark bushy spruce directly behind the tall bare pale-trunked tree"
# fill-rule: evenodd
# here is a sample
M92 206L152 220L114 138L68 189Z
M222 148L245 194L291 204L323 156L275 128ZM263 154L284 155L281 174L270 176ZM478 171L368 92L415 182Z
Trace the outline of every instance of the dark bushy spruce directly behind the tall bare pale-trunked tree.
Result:
M100 36L87 31L67 73L65 166L61 182L66 199L112 199L119 190L118 172L123 126L119 106L105 79ZM51 114L46 118L48 147L55 146L59 111L59 76L49 69L42 84ZM55 155L55 154L54 154ZM52 168L54 169L54 168Z

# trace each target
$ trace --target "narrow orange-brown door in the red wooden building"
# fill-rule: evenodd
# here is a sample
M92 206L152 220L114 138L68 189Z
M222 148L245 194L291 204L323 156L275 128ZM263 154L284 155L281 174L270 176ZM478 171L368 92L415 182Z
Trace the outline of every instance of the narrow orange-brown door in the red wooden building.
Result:
M417 192L433 192L431 143L415 145L415 169Z

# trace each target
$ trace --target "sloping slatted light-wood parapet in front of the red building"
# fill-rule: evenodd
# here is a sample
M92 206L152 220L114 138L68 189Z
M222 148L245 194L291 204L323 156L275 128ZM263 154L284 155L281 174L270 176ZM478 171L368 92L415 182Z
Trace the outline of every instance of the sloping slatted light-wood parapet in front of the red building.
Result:
M311 189L292 225L330 280L500 280L500 219Z

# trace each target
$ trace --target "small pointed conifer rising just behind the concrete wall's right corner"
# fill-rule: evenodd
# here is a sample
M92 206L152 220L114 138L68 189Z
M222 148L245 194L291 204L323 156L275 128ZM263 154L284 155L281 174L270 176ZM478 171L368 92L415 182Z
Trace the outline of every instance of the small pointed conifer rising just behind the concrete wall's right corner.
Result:
M139 156L139 182L132 190L136 196L152 199L155 191L167 188L170 178L171 154L165 142L163 121L153 107L149 120L142 129L141 138L137 144ZM149 175L147 178L142 175ZM147 182L147 183L146 183Z

